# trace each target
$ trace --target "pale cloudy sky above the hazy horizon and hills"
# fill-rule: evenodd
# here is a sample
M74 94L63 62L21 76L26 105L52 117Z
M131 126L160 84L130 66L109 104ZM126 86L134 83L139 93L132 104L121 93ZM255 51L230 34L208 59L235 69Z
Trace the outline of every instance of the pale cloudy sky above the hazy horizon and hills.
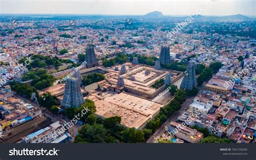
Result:
M256 0L0 0L0 13L145 15L256 15Z

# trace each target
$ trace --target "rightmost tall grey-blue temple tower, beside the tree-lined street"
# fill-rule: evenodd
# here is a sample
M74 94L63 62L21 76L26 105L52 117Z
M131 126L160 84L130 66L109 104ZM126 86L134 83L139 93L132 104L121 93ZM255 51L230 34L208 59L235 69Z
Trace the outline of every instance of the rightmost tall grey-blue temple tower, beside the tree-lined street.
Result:
M180 88L191 91L196 86L197 86L196 70L194 68L194 64L192 62L188 62L187 69L185 71L185 75L181 82Z

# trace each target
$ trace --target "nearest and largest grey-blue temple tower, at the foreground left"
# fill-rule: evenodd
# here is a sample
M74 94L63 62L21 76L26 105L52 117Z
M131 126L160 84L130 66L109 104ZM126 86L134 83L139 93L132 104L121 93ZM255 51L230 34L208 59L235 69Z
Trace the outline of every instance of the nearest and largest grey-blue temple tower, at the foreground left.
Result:
M60 105L64 108L79 108L84 104L84 97L79 87L79 82L76 78L66 80L64 97Z

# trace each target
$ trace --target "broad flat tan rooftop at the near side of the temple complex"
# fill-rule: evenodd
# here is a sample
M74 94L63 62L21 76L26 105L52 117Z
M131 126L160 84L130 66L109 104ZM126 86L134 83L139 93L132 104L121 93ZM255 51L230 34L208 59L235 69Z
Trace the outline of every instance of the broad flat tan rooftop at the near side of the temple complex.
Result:
M93 93L87 98L95 102L97 115L120 116L121 124L129 128L142 127L163 106L127 93L117 94L111 91L103 93L102 97Z

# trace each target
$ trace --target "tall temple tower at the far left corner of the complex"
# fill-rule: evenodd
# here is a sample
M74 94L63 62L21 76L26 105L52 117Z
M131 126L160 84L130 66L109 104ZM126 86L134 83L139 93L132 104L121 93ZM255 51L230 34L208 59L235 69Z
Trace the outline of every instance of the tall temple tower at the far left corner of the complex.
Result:
M91 68L98 66L99 63L94 51L94 47L92 45L87 46L85 52L86 54L84 60L86 61L86 67Z

